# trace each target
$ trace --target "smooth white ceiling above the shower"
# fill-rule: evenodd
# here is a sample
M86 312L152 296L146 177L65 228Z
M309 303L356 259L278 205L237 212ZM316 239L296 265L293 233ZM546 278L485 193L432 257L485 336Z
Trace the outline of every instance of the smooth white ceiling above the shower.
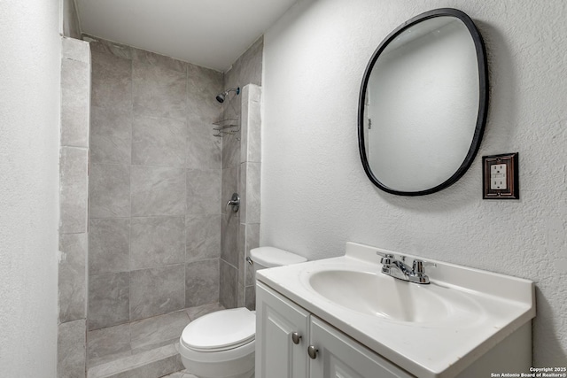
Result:
M82 33L226 71L297 0L75 0Z

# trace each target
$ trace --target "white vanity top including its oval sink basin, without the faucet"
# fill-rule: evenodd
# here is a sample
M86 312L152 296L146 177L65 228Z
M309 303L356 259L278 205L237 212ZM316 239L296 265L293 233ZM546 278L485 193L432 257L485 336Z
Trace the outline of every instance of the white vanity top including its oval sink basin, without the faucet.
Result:
M345 256L261 269L256 280L298 305L301 321L311 313L412 376L452 378L471 364L488 373L467 376L489 376L502 367L494 345L531 360L529 346L525 357L511 351L531 343L533 282L429 258L430 284L404 282L382 273L377 252L396 254L346 243Z

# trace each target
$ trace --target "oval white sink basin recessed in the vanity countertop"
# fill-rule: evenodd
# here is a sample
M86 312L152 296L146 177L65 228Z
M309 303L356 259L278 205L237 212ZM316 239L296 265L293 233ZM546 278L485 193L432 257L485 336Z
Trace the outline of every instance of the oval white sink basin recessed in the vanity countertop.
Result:
M322 270L310 275L308 285L320 296L354 312L408 321L446 319L449 308L439 287L404 282L385 274L350 270Z

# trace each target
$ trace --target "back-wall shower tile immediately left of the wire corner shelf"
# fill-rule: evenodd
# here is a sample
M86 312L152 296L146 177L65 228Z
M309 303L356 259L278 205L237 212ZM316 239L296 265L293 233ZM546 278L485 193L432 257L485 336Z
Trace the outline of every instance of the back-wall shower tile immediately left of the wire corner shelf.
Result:
M214 125L199 120L188 121L187 167L220 169L222 166L222 140L214 136Z

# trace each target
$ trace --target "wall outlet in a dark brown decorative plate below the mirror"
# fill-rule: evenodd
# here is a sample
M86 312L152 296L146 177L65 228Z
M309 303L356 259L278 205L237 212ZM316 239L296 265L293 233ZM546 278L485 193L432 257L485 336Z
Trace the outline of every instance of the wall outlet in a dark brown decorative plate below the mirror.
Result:
M519 199L516 153L482 157L483 199Z

